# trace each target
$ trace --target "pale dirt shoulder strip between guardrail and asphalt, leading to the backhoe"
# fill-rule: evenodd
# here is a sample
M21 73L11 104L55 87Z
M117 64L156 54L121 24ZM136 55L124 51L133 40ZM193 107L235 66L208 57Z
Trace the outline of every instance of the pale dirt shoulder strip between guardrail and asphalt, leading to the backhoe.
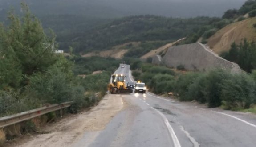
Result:
M106 124L126 106L118 95L107 95L98 106L77 116L70 116L45 128L47 134L36 135L10 147L72 147L85 131L103 130Z

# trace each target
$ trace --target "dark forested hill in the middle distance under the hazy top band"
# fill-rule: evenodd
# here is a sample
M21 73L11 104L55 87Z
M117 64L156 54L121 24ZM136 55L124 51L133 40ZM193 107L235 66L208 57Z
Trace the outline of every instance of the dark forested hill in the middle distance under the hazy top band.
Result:
M220 18L196 17L191 19L167 18L154 15L130 16L115 19L90 30L71 32L73 35L59 35L61 49L73 46L78 53L108 50L113 46L129 42L173 41L191 34L219 26ZM72 36L76 36L72 38ZM65 40L65 42L64 42Z

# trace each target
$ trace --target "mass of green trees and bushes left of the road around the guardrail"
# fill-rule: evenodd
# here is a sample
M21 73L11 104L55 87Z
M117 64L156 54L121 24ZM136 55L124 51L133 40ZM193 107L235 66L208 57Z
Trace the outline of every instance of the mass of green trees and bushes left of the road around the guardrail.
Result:
M97 104L106 94L110 74L119 61L55 53L53 31L45 33L26 4L22 4L22 10L22 16L10 12L8 25L0 24L0 117L67 101L73 104L64 111L71 113ZM102 72L92 74L96 70ZM0 130L0 145L5 139L35 132L38 125L61 115L50 112L38 121L4 128Z

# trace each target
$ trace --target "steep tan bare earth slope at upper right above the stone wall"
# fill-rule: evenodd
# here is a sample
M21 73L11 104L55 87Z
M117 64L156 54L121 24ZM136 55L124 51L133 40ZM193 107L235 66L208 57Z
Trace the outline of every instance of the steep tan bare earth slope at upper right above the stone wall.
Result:
M207 45L217 54L228 51L233 42L240 44L241 40L256 39L256 28L253 24L256 23L256 18L245 19L244 21L232 23L223 29L217 31L215 35L208 39Z

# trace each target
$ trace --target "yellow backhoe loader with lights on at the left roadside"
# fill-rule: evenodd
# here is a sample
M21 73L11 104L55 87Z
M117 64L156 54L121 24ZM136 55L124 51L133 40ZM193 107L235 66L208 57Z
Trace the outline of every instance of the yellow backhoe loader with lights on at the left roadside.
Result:
M110 94L132 93L132 89L127 88L125 81L126 76L124 76L123 74L112 75L112 80L109 85Z

